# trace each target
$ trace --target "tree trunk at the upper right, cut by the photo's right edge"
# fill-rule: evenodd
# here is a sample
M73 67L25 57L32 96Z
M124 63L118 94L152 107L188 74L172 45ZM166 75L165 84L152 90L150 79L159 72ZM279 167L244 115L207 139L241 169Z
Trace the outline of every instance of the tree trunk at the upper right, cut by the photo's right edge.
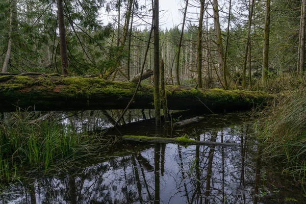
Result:
M300 55L299 55L299 73L304 73L304 64L305 64L305 17L306 17L306 0L303 0L302 5L302 16L300 23Z

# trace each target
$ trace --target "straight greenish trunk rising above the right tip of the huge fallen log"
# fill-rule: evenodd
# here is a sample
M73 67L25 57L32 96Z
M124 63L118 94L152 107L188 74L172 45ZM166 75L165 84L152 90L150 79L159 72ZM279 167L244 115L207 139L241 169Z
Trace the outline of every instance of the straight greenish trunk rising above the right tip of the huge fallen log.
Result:
M267 81L269 73L270 3L271 0L267 0L265 31L264 31L264 51L263 51L263 73L262 73L263 84Z

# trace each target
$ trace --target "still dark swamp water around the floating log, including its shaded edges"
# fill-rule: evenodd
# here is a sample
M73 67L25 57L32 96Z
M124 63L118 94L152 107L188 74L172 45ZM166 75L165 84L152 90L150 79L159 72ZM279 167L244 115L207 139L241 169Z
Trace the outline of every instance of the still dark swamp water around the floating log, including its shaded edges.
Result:
M155 130L154 121L148 120L119 130L126 135L188 134L196 140L239 145L121 141L101 161L61 169L53 175L33 171L26 179L2 185L0 203L306 203L299 186L273 173L277 170L265 160L257 159L257 141L249 136L252 123L248 113L207 117L182 129ZM135 118L132 121L140 120ZM92 127L91 119L68 121L80 127L86 121ZM111 126L103 123L104 119L98 121L98 127ZM106 134L115 131L110 129Z

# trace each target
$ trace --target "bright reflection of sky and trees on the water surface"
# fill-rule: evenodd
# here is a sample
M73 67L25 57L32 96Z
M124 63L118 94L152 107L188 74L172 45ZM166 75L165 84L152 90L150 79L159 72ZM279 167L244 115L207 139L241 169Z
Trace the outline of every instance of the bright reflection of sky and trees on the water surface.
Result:
M248 127L193 135L237 147L137 144L105 162L4 187L0 203L273 203L255 196L263 182Z

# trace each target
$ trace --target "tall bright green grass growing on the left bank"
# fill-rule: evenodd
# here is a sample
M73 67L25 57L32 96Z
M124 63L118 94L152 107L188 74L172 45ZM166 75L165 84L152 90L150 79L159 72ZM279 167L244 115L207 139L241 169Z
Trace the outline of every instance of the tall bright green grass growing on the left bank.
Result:
M46 172L50 165L51 169L78 166L107 150L111 141L100 139L77 133L71 124L56 119L31 120L16 113L0 122L0 179L10 181L23 169Z

